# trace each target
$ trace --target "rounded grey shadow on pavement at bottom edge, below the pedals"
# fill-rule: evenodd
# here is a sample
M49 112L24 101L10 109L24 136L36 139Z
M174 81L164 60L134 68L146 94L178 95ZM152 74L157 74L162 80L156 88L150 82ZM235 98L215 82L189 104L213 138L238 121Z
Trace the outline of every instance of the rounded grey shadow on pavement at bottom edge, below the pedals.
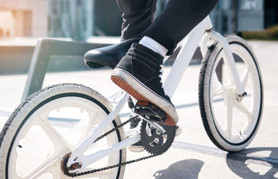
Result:
M185 159L171 164L167 169L156 171L155 179L195 179L198 178L204 162L198 159Z

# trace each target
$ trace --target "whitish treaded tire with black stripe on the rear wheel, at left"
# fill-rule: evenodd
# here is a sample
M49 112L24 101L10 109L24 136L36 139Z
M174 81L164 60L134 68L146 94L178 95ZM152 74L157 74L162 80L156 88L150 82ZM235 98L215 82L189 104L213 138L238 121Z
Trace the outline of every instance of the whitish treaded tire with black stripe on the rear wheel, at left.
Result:
M86 86L82 86L79 84L58 84L54 86L49 86L44 88L30 97L28 97L22 104L15 109L13 114L8 118L6 125L3 127L3 130L0 134L0 178L5 179L13 179L12 176L9 176L9 171L14 171L15 169L10 169L9 162L13 161L13 156L18 148L22 148L19 143L17 143L17 137L19 138L19 134L22 134L22 130L31 123L28 119L35 112L42 109L45 104L49 104L50 102L54 102L54 100L61 100L63 98L74 98L81 99L84 101L88 101L90 104L96 105L97 109L101 110L102 114L109 114L109 112L113 109L112 105L104 96L97 93L97 91L92 90ZM90 122L90 120L89 120ZM116 127L120 124L120 118L117 116L113 120L113 124L111 126ZM113 132L114 138L117 142L124 139L124 130L120 128ZM35 145L36 143L34 143ZM16 145L16 146L15 146ZM34 151L35 153L36 151ZM61 151L61 155L65 155L68 151ZM117 153L117 160L119 162L125 162L126 159L126 149L120 150ZM60 170L60 166L57 166L57 171L62 172ZM103 166L100 166L103 167ZM60 173L58 173L60 175ZM115 169L113 174L113 178L123 178L124 176L124 166L118 167ZM56 178L53 175L53 178Z

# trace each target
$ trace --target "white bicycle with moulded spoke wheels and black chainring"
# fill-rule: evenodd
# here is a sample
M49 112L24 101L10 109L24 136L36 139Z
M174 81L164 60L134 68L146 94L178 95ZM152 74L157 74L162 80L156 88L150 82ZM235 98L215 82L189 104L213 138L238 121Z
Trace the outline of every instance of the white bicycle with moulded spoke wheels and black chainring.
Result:
M261 122L263 81L256 57L242 38L222 37L206 17L186 37L163 84L165 93L174 94L199 42L204 57L199 108L206 133L222 150L243 150ZM152 104L137 102L133 118L141 118L141 126L124 131L133 118L121 123L118 114L128 98L120 90L106 99L80 84L58 84L34 93L3 127L0 178L122 178L126 164L161 155L174 140L174 128L152 123L149 117L163 114ZM152 155L126 161L126 147L140 140Z

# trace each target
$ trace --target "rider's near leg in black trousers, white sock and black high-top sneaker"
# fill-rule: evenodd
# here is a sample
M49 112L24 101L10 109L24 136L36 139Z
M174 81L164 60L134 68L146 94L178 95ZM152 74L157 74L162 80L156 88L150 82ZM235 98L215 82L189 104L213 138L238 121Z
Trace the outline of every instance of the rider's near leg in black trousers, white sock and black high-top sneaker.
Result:
M202 21L218 1L170 0L163 13L143 33L147 38L143 38L140 44L131 45L129 52L113 70L111 79L114 83L138 101L152 102L162 109L166 118L162 118L161 122L166 125L176 125L179 117L162 88L161 54L165 50L160 52L157 47L165 47L171 53L177 42Z

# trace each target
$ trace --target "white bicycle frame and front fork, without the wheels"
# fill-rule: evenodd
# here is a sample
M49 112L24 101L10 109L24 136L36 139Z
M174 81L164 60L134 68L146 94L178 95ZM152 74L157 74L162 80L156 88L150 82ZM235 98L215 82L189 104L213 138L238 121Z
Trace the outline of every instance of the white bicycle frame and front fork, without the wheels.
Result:
M164 91L167 95L172 97L174 91L176 90L181 77L183 76L183 72L185 72L186 68L188 67L195 50L200 42L200 49L202 52L202 56L206 54L208 42L213 40L213 42L218 42L222 48L224 49L224 63L227 64L227 71L232 81L236 86L236 93L237 95L242 95L244 93L243 84L240 82L240 77L238 75L238 71L236 69L236 63L234 61L234 57L231 53L231 49L229 47L229 43L220 33L213 31L213 25L211 24L211 19L207 16L201 23L199 23L195 29L193 29L188 36L186 36L185 42L183 43L181 50L177 56L177 59L174 61L174 65L170 70L167 79L163 84ZM164 62L167 60L165 57ZM216 75L216 74L215 74ZM172 80L174 79L174 80ZM218 81L216 81L217 83ZM100 150L96 153L92 153L90 155L83 155L85 150L92 145L92 141L95 141L99 135L101 135L106 127L112 122L114 118L120 113L122 107L126 103L127 99L129 98L129 94L124 91L118 91L114 95L111 96L108 100L112 103L116 103L115 109L111 111L106 118L99 124L99 126L94 130L94 132L87 138L79 147L76 148L72 152L70 159L67 162L67 166L71 166L76 162L81 162L82 166L81 169L76 169L70 172L77 172L82 171L86 166L92 164L93 162L97 162L97 160L101 159L102 157L106 157L111 153L121 150L122 148L126 148L127 146L131 146L133 143L140 141L140 128L134 128L129 130L126 133L126 139L120 141L119 143L115 143L113 146L105 150ZM117 99L118 102L117 102Z

